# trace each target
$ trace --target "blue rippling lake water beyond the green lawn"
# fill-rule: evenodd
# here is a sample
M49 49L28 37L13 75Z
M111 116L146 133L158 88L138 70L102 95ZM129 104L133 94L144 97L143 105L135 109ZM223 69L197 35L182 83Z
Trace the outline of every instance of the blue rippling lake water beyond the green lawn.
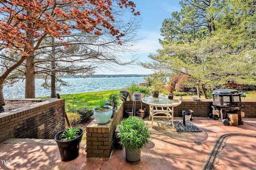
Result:
M107 91L116 89L125 89L132 83L144 81L143 77L107 77L107 78L65 78L62 79L69 83L70 86L62 86L60 95L86 93L94 91ZM44 89L41 85L44 79L36 79L36 97L50 96L51 91ZM4 86L4 98L24 98L25 82L14 83L13 86Z

